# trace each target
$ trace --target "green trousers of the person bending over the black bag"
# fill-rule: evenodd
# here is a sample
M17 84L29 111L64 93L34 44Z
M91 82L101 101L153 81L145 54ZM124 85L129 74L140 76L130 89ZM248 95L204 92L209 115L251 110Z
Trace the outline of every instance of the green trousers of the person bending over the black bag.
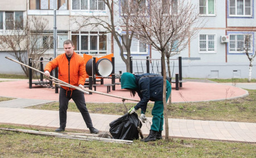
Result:
M166 102L168 101L170 94L171 94L171 84L170 82L166 81ZM152 131L163 131L163 101L155 101L154 107L152 109Z

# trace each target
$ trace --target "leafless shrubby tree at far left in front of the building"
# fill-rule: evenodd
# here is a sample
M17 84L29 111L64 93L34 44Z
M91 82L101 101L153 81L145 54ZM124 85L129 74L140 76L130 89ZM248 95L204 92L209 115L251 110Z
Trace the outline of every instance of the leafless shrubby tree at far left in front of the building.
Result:
M23 17L16 18L13 22L10 17L6 23L6 30L3 36L0 36L0 46L2 51L10 51L10 55L14 56L20 63L28 64L28 57L32 60L39 60L40 56L49 49L50 40L46 41L42 47L43 31L47 30L48 20L31 16L29 19ZM23 72L28 77L28 68L20 65ZM36 67L36 64L32 64Z

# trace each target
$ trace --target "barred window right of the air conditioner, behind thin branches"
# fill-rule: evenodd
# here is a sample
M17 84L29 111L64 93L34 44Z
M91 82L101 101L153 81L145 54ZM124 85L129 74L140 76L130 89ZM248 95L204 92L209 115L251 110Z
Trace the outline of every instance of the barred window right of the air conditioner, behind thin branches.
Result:
M252 34L229 34L229 52L242 53L245 49L252 50Z

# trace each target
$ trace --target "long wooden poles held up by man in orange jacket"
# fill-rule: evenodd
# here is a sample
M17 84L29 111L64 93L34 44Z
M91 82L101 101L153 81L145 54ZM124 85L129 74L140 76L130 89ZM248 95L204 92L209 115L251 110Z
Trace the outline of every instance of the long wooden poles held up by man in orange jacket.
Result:
M18 64L20 64L20 65L26 66L26 67L28 67L28 68L30 68L30 69L33 69L33 70L35 70L36 72L39 72L39 73L44 74L44 72L42 72L42 71L40 71L40 70L38 70L38 69L32 68L31 66L28 66L28 65L26 65L26 64L20 63L19 61L16 61L16 60L14 60L14 59L10 59L10 58L7 57L7 56L6 56L5 58L6 58L6 59L9 59L9 60L11 60L11 61L14 61L15 63L18 63ZM70 85L70 84L68 84L67 82L61 81L61 80L59 80L58 78L55 78L55 77L53 77L53 76L49 76L49 77L52 78L52 79L54 79L54 80L56 80L56 81L58 81L58 82L60 82L60 84L68 85L68 86L70 86L70 87L73 88L73 89L81 90L80 88L77 88L76 86ZM120 99L129 100L129 101L139 102L139 100L136 100L136 99L125 98L125 97L119 97L119 96L117 96L117 95L111 95L111 94L107 94L107 93L97 92L97 91L94 91L94 90L89 90L89 89L83 89L83 90L86 91L86 92L91 92L91 93L96 93L96 94L101 94L101 95L107 95L107 96L109 96L109 97L114 97L114 98L120 98Z

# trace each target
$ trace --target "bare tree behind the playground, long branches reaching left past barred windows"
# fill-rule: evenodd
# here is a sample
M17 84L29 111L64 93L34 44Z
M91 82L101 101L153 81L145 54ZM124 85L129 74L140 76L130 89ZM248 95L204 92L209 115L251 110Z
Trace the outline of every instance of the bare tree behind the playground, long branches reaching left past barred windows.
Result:
M102 27L105 30L107 30L107 33L111 33L115 41L117 42L117 45L120 49L120 55L122 60L126 64L126 71L130 72L130 59L131 56L131 40L134 36L134 31L129 30L129 27L124 25L126 23L129 23L129 15L130 9L129 6L127 6L127 1L122 0L120 1L121 11L116 11L114 9L119 8L119 2L108 1L108 0L102 0L102 2L105 3L105 6L108 8L110 13L110 19L102 18L98 15L93 16L82 16L82 19L76 18L75 23L79 26L79 30L86 26L93 26L95 27ZM117 21L114 20L114 15L121 15L120 19L117 19ZM93 29L92 28L92 29ZM122 31L125 31L126 34L122 34ZM119 37L121 38L121 41L119 40ZM125 53L126 52L126 53Z

